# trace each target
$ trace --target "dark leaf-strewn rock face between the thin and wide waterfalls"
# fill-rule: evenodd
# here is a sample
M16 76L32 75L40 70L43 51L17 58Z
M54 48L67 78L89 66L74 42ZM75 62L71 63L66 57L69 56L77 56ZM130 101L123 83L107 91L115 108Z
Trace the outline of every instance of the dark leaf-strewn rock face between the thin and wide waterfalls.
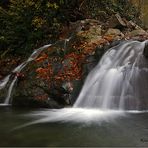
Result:
M12 104L48 108L72 105L88 73L109 48L121 40L147 38L143 29L119 16L114 24L108 22L86 19L73 23L70 39L61 39L44 50L21 71ZM148 42L144 55L148 57Z

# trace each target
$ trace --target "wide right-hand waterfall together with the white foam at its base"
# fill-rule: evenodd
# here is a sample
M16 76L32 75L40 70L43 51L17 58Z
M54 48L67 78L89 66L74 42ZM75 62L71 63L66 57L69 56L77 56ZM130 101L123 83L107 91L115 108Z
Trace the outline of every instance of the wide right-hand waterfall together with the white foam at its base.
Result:
M110 122L127 114L148 112L148 61L143 57L145 42L128 41L109 49L89 73L73 108L36 111L27 116L38 123Z

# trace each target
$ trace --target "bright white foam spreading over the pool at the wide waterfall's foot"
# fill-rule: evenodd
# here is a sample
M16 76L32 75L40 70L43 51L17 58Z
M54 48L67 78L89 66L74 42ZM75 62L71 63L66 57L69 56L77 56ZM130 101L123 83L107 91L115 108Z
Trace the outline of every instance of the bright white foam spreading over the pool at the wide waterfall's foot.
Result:
M90 125L93 123L102 124L102 122L110 122L119 116L125 116L123 111L117 110L99 110L85 108L63 108L63 109L48 109L44 111L34 111L25 115L35 118L34 121L20 125L13 130L18 130L27 126L48 122L71 122L85 123Z

